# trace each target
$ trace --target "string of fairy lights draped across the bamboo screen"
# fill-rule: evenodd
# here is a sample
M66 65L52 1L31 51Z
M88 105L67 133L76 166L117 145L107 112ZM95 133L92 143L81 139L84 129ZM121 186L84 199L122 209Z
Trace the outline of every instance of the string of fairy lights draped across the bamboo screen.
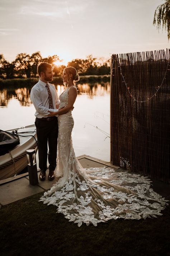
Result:
M111 60L112 60L112 59L113 59L113 58L111 58ZM168 59L168 60L170 60L170 59ZM114 61L115 61L115 59L113 59L113 63L112 63L112 71L111 71L111 75L112 75L112 76L114 76L113 70L115 69L115 68L113 68ZM126 86L126 88L127 88L127 90L128 90L128 93L129 93L130 96L134 99L134 101L140 102L140 103L147 102L147 101L149 101L150 99L152 99L153 97L156 96L157 92L160 90L160 88L161 88L161 86L162 86L162 84L163 84L163 82L164 82L164 80L165 80L165 78L166 78L166 73L167 73L167 71L170 70L170 64L168 63L168 64L167 64L167 67L166 67L166 71L165 71L164 78L163 78L163 80L162 80L162 83L161 83L160 86L158 86L158 89L156 89L156 92L154 93L154 95L152 95L150 98L147 98L146 100L140 101L140 100L137 100L137 99L132 95L131 91L129 90L130 88L128 87L127 82L125 81L124 76L123 76L123 74L122 74L121 66L119 65L118 67L120 68L121 76L122 76L122 78L123 78L123 83L125 84L125 86Z

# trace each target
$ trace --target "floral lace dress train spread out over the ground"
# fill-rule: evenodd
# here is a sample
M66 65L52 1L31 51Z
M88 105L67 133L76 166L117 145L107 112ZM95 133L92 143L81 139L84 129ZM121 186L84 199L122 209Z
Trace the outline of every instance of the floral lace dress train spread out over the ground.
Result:
M86 175L70 170L69 179L61 189L55 191L59 180L41 198L44 203L57 206L57 212L78 226L82 223L96 226L118 218L157 217L167 205L165 198L153 191L147 177L107 168L85 171Z

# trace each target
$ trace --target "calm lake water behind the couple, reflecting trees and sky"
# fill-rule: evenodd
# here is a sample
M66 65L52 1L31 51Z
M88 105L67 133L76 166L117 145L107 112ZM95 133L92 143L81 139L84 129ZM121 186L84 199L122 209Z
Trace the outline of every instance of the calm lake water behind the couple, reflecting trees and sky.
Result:
M35 109L29 98L32 86L0 90L1 130L34 123ZM60 95L64 86L55 86ZM86 154L110 161L110 138L107 137L107 134L110 134L110 84L108 82L78 84L78 89L79 94L72 111L75 122L72 131L75 154L76 156Z

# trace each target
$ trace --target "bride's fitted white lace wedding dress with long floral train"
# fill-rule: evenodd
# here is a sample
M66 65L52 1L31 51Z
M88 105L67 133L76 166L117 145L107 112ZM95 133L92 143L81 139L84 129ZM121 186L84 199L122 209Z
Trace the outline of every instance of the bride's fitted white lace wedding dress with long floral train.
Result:
M68 103L68 90L60 95L60 108ZM153 191L147 177L108 168L82 169L72 147L73 126L71 111L58 117L57 176L62 178L40 201L57 206L57 212L78 226L162 215L166 200Z

